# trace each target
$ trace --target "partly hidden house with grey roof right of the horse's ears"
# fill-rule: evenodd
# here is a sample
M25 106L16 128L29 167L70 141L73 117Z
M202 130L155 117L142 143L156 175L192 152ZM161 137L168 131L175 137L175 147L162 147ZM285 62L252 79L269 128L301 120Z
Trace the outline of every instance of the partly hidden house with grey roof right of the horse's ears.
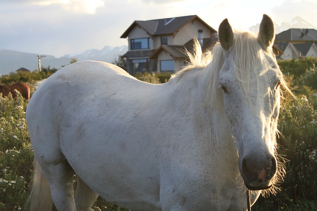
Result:
M275 46L283 51L277 58L317 57L317 30L289 29L275 37Z

